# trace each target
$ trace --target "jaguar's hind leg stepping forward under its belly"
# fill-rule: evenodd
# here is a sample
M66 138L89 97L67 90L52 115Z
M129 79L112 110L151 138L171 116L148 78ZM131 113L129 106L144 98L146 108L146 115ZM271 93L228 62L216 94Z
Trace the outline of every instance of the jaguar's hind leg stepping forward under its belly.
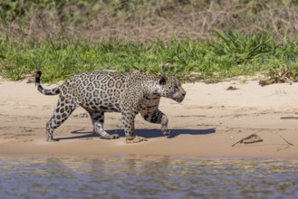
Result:
M94 133L97 136L105 139L116 139L119 138L118 134L109 134L103 129L104 123L104 112L89 112L92 119Z

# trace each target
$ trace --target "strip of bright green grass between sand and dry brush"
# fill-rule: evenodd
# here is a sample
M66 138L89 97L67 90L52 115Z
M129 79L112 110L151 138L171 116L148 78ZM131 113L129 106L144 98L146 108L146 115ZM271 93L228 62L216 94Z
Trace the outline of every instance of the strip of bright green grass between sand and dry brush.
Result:
M84 71L150 71L175 74L184 81L220 80L238 75L298 68L298 40L278 43L271 33L215 32L208 41L167 42L101 40L88 43L72 39L14 42L0 37L0 70L8 79L43 71L43 81L64 80Z

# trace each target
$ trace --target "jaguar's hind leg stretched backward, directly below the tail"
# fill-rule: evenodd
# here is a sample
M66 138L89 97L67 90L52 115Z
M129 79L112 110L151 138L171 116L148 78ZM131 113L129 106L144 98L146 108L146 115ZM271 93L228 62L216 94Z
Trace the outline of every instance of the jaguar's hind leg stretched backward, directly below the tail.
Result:
M78 106L74 104L65 104L58 100L57 107L53 111L52 118L46 123L46 141L58 141L53 138L53 130L58 128L72 114L72 111Z

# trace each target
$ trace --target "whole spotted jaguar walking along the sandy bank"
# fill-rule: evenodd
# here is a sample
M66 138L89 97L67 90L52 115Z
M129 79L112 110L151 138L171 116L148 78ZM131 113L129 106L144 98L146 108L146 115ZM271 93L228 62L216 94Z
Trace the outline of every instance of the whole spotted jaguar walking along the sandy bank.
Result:
M160 97L181 102L186 91L173 76L159 76L134 71L92 71L74 75L62 85L44 89L40 83L41 71L35 75L35 85L44 95L60 94L53 117L46 123L46 140L55 141L53 130L58 128L79 106L90 114L96 135L113 139L103 129L105 112L120 112L126 137L134 137L134 119L138 113L151 123L161 124L161 131L168 136L168 118L159 110Z

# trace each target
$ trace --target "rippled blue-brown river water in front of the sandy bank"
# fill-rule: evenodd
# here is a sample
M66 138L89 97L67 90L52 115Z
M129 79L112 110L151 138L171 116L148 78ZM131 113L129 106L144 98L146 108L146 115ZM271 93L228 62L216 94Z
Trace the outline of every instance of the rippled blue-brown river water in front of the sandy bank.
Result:
M298 198L298 160L0 156L0 198Z

